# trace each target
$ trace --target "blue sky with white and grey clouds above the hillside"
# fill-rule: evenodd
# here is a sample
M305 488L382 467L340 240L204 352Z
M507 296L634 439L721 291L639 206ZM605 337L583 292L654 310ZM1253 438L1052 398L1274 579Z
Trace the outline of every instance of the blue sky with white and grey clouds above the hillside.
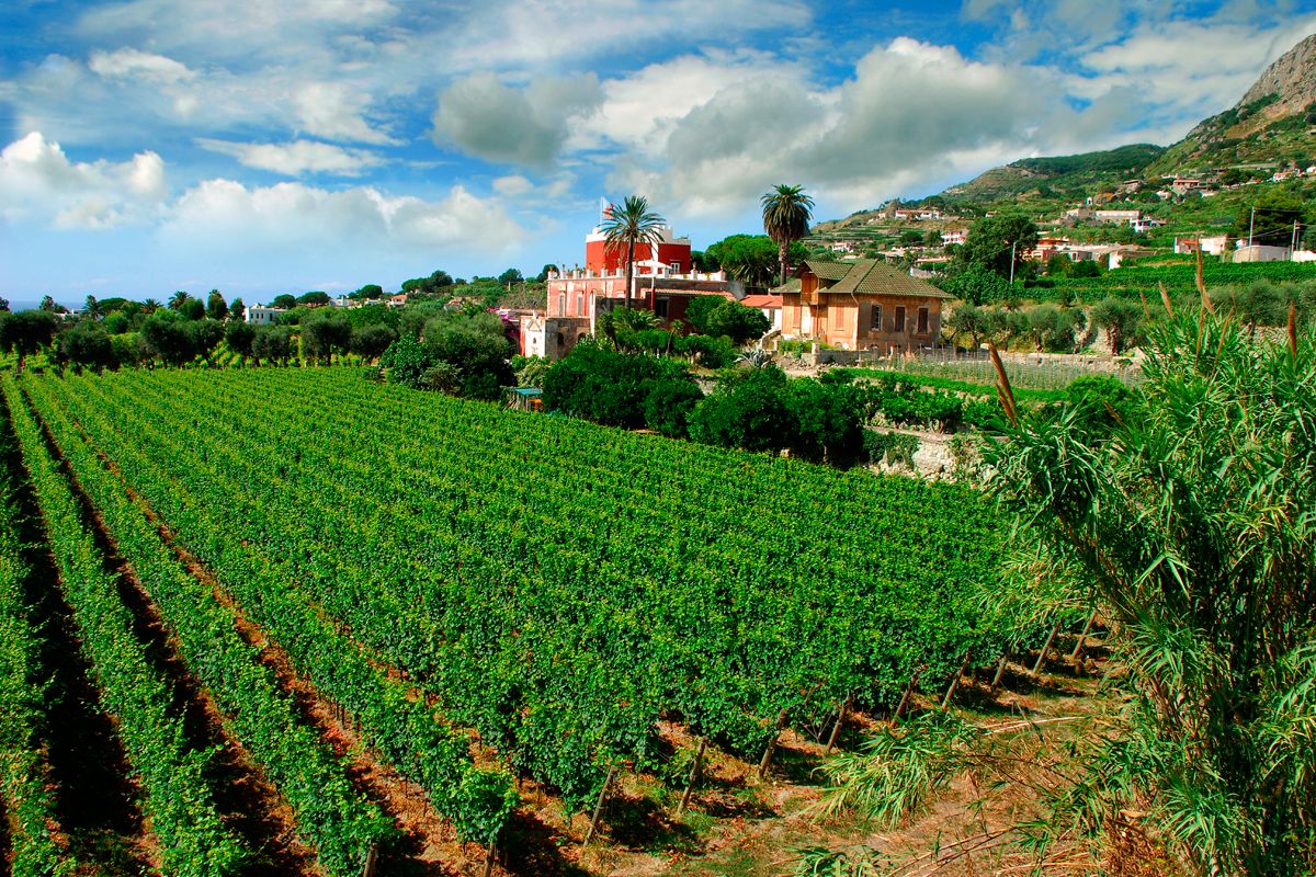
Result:
M1316 0L5 0L0 296L396 288L696 247L1029 155L1170 143Z

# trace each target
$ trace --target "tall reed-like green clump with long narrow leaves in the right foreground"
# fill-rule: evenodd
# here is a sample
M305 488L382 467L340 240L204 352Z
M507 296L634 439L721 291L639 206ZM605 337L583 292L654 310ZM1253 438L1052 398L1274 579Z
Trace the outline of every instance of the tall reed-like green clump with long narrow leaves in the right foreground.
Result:
M988 460L1030 565L1109 619L1130 696L1054 823L1117 838L1132 811L1191 874L1316 873L1316 338L1199 312L1146 352L1108 440L1025 415Z

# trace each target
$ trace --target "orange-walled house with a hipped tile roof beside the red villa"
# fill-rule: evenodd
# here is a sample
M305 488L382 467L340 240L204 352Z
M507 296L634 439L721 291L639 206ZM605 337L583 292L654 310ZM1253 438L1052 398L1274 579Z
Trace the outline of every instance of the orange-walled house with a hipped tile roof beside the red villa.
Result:
M805 262L780 288L782 337L883 354L936 347L948 296L876 259Z

